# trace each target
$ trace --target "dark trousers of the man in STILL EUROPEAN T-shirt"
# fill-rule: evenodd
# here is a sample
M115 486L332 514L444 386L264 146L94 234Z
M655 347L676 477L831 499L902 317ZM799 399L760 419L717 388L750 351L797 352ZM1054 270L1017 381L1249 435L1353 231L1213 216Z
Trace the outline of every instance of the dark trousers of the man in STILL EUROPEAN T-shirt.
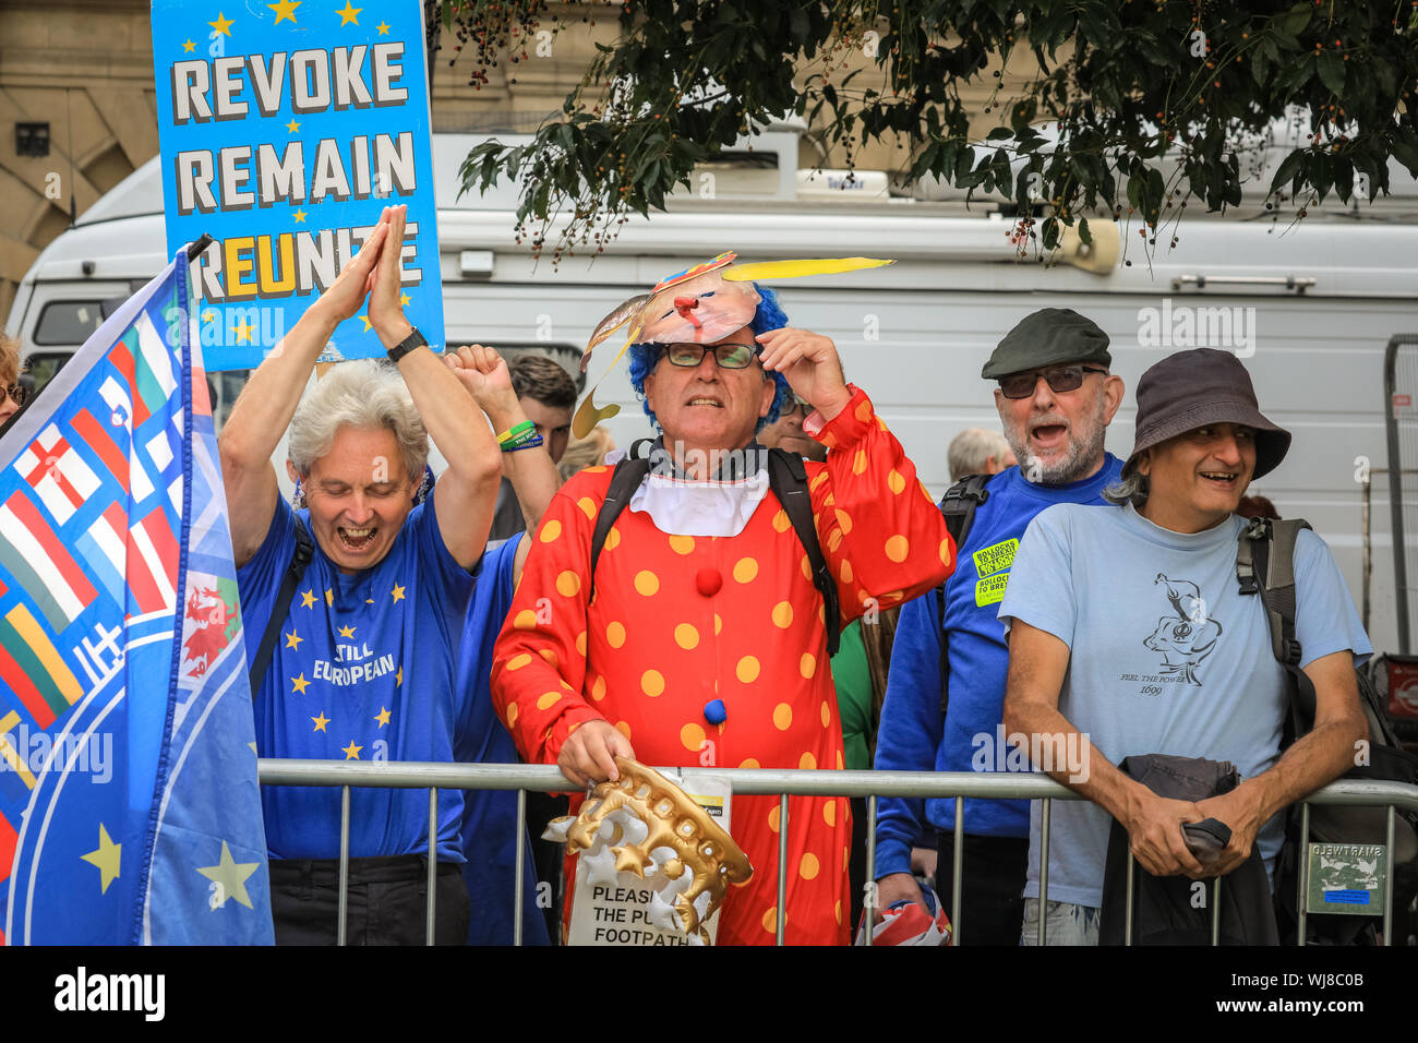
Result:
M434 942L468 941L471 905L459 867L438 863ZM277 945L335 945L339 925L340 864L335 859L271 863L271 918ZM349 945L424 945L428 912L428 859L400 854L350 859L346 935Z

